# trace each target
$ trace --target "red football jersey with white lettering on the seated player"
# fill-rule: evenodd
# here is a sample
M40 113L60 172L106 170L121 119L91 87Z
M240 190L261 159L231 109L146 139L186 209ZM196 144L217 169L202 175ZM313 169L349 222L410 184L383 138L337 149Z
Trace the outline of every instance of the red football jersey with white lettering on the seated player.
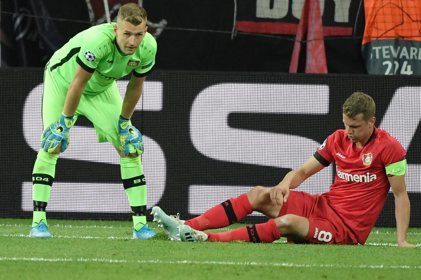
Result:
M364 147L357 148L340 129L328 136L314 156L324 165L336 162L335 180L322 196L364 244L390 189L385 166L403 160L405 149L380 128L374 129Z

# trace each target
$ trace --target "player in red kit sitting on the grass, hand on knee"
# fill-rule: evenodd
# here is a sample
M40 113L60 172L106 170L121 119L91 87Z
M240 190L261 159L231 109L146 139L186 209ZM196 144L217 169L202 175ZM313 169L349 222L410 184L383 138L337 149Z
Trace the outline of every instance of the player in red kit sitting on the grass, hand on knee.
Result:
M354 92L343 105L345 129L328 136L312 157L277 186L256 186L191 220L168 216L157 206L151 214L168 238L176 241L269 243L283 236L294 243L364 244L392 188L397 244L415 247L406 241L410 219L406 153L389 133L374 126L375 113L373 99ZM311 195L292 190L332 162L336 176L328 192ZM269 220L220 233L203 232L231 225L253 211Z

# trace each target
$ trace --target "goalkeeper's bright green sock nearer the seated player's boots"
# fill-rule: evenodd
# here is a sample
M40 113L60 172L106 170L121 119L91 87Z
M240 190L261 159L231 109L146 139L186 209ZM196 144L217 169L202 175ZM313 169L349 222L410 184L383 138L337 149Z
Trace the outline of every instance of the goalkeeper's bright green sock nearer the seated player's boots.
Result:
M140 157L120 158L121 178L132 210L133 228L146 225L146 180Z

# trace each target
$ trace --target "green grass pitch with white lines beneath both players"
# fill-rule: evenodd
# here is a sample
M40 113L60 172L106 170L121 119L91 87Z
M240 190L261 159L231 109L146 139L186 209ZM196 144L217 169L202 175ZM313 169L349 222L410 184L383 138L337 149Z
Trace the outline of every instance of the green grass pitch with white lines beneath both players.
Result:
M99 220L50 219L39 239L31 222L0 219L0 279L421 279L421 248L397 247L395 228L339 246L175 242L153 222L157 236L133 240L131 221ZM421 246L421 228L408 242Z

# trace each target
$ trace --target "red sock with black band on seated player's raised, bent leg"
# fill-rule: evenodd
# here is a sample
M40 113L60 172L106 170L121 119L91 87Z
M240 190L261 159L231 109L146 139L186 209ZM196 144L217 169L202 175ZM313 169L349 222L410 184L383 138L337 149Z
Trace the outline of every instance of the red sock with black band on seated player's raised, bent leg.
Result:
M202 215L186 221L195 230L224 228L253 212L246 194L231 198L209 209Z

